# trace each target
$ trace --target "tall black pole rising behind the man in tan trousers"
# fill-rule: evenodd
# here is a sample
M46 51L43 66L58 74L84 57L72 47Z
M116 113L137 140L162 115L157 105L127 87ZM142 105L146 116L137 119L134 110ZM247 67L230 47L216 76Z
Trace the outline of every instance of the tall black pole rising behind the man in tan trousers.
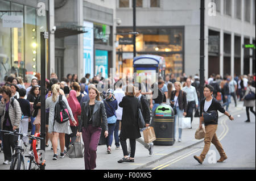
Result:
M200 5L200 100L204 98L204 11L205 1Z

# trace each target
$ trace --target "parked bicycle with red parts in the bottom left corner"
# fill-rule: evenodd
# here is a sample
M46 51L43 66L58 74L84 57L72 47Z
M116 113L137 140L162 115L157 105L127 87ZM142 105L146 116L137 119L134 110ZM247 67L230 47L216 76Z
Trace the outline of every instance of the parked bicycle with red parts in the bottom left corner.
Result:
M15 146L14 153L11 158L10 170L44 170L46 160L42 158L43 154L41 153L40 149L36 148L36 142L39 140L44 140L44 138L38 137L40 133L36 133L35 136L30 136L24 133L23 134L18 133L17 131L11 132L11 131L0 130L0 132L19 137L18 145ZM33 140L30 146L30 151L28 152L28 155L25 155L25 156L23 156L23 154L27 149L24 150L22 148L22 142L23 142L23 145L27 148L26 143L22 140L22 138L24 137L27 137L30 140ZM28 158L26 167L24 164L24 157ZM40 161L42 161L42 163Z

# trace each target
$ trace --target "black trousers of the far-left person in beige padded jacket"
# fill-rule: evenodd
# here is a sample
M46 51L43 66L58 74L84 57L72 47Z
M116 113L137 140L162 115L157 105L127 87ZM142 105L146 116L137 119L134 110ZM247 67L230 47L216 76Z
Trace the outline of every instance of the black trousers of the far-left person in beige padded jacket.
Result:
M13 127L3 127L3 130L13 131ZM16 129L19 132L19 129ZM18 136L13 136L3 133L3 154L5 155L5 161L11 161L11 149L13 149L18 144Z

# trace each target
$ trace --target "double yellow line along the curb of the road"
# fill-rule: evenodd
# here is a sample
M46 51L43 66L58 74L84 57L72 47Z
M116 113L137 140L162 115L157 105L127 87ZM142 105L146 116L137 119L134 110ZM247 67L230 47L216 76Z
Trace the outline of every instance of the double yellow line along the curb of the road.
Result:
M228 134L228 132L229 132L229 128L228 128L228 126L226 125L226 121L227 121L227 120L228 120L228 119L225 119L225 120L221 121L221 124L220 124L220 125L222 125L223 131L221 132L220 136L218 137L218 140L219 140L219 141L221 141L221 140L226 136L226 134ZM188 153L185 153L185 154L183 154L183 155L180 155L179 157L174 158L174 159L172 159L171 161L168 161L168 162L166 162L166 163L164 163L164 164L162 164L162 165L159 165L159 166L155 167L155 168L152 169L152 170L161 170L161 169L164 169L165 167L168 167L168 166L170 166L170 165L172 165L172 164L174 164L174 163L180 161L181 159L184 159L184 158L186 158L186 157L188 157L188 156L190 156L190 155L192 155L192 154L195 154L197 151L201 151L201 150L203 150L203 148L194 149L194 150L192 150L192 151L189 151Z

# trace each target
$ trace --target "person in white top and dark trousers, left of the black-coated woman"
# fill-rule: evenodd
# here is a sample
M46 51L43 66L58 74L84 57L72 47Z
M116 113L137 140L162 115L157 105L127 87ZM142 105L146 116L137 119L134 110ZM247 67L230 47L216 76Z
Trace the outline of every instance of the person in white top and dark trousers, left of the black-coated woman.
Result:
M122 90L122 81L118 81L115 83L114 96L115 96L115 99L117 99L118 104L122 101L123 96L125 96L125 91ZM114 129L116 150L119 150L120 148L118 131L119 131L119 122L122 120L122 113L123 113L123 108L118 106L117 110L115 111L115 114L117 115L117 122L115 123L115 129Z

